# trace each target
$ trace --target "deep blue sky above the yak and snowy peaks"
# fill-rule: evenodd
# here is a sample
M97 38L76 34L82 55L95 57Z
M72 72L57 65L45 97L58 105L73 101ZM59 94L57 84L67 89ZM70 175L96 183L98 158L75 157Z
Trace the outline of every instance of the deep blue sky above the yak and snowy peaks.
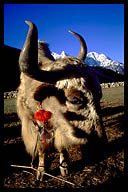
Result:
M104 53L124 63L123 4L4 4L4 44L21 49L32 21L38 39L47 41L52 52L63 50L77 57L79 42L68 30L81 34L88 53Z

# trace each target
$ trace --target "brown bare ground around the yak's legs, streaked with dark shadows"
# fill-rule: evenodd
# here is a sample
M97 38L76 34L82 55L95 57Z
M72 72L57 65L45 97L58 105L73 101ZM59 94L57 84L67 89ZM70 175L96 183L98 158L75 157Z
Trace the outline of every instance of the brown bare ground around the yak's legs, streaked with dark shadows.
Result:
M5 113L4 120L4 188L79 188L86 191L108 191L116 189L124 180L124 93L123 87L103 89L101 100L103 123L108 138L106 146L86 154L81 161L80 147L69 148L70 173L66 177L59 174L57 152L49 153L47 173L71 182L68 184L47 175L43 182L36 182L35 171L15 168L10 165L30 166L31 158L25 152L20 134L20 121L15 112Z

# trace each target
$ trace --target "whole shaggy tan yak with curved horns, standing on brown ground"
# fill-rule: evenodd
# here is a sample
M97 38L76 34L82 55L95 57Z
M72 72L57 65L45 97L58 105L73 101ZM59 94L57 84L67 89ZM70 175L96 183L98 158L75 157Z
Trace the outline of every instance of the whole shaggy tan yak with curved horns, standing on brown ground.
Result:
M19 58L21 70L17 112L27 152L39 159L37 179L45 171L45 153L54 147L60 153L60 172L68 174L66 148L86 145L89 138L104 138L100 114L102 90L94 71L84 62L87 47L80 41L77 58L54 59L46 42L38 41L36 26L26 21L29 32ZM49 111L47 122L34 119L40 110ZM93 141L91 141L93 142Z

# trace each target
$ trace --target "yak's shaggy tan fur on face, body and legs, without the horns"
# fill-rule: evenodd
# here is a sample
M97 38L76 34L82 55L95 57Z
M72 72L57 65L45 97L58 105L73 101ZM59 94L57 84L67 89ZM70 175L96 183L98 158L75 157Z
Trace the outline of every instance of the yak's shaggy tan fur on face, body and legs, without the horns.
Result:
M39 142L36 151L39 156L37 173L39 179L40 174L44 172L40 167L44 165L43 154L47 148L55 147L60 152L62 163L64 149L72 144L86 144L89 135L94 133L97 137L102 137L103 130L99 115L102 92L94 72L83 61L74 57L44 61L40 51L38 57L40 69L47 71L63 69L64 73L70 70L72 74L51 85L21 73L17 112L22 122L22 137L26 150L32 156L38 135L33 124L33 115L39 109L52 113L49 127L53 129L54 137L47 146ZM60 170L62 175L67 173L67 168L60 167Z

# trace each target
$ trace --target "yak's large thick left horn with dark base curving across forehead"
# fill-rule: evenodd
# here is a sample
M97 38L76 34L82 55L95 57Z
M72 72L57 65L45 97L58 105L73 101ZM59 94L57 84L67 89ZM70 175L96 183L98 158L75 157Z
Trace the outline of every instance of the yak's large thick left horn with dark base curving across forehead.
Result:
M58 72L44 71L39 69L37 27L30 21L25 22L29 25L29 31L19 57L19 66L21 72L33 79L46 83L55 83L57 80L65 78L66 74L63 70ZM52 58L50 59L52 60Z

